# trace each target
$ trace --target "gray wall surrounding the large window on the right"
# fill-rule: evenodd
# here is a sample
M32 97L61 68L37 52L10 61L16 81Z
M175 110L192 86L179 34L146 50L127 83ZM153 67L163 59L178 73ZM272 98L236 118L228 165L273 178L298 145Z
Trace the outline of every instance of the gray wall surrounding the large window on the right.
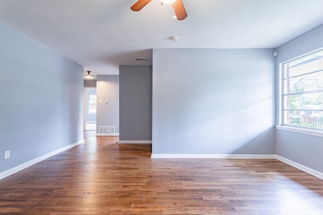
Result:
M323 25L278 47L276 58L276 98L279 111L279 64L323 47ZM279 112L277 112L277 116ZM279 119L277 117L277 124ZM295 133L285 130L276 131L276 154L296 163L323 173L323 137Z

